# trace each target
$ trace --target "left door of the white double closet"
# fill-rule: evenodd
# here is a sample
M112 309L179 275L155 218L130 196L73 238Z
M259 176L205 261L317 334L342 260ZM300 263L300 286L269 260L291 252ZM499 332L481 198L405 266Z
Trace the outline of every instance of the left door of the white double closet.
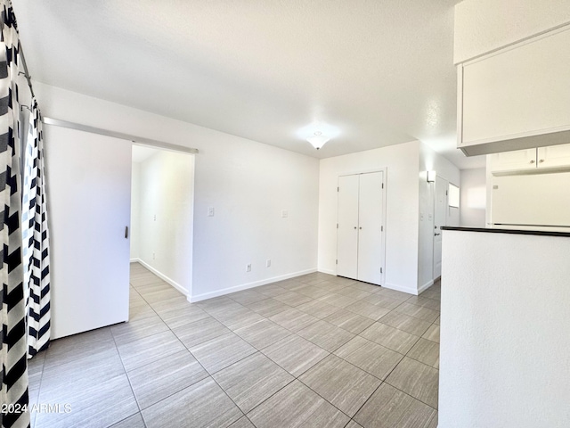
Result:
M337 275L358 278L358 176L338 177Z

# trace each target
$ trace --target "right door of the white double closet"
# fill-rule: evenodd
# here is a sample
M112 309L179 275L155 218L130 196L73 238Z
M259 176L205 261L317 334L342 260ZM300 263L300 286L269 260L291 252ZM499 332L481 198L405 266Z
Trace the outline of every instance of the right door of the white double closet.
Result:
M382 248L382 215L384 213L382 182L382 172L360 176L358 279L372 284L381 283L381 268L384 260Z

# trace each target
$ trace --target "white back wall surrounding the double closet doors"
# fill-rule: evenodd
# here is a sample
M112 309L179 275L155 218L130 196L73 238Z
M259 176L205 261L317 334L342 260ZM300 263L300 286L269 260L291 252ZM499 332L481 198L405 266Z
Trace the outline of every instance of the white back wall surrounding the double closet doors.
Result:
M417 293L419 142L323 159L319 188L319 270L334 274L338 176L387 168L386 284Z

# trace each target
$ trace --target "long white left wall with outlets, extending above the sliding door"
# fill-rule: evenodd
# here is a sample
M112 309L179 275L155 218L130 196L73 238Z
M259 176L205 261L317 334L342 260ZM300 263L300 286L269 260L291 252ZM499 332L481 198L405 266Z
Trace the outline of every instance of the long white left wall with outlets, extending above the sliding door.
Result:
M34 90L45 117L199 149L192 300L316 269L316 159L39 82ZM289 217L281 218L281 210Z

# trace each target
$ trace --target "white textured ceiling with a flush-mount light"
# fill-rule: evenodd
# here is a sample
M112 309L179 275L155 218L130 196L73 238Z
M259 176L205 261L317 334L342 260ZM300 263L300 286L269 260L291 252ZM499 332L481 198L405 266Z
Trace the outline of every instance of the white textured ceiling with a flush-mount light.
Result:
M33 78L317 158L455 146L459 0L13 0ZM305 134L337 133L320 151ZM330 127L330 128L326 128Z

